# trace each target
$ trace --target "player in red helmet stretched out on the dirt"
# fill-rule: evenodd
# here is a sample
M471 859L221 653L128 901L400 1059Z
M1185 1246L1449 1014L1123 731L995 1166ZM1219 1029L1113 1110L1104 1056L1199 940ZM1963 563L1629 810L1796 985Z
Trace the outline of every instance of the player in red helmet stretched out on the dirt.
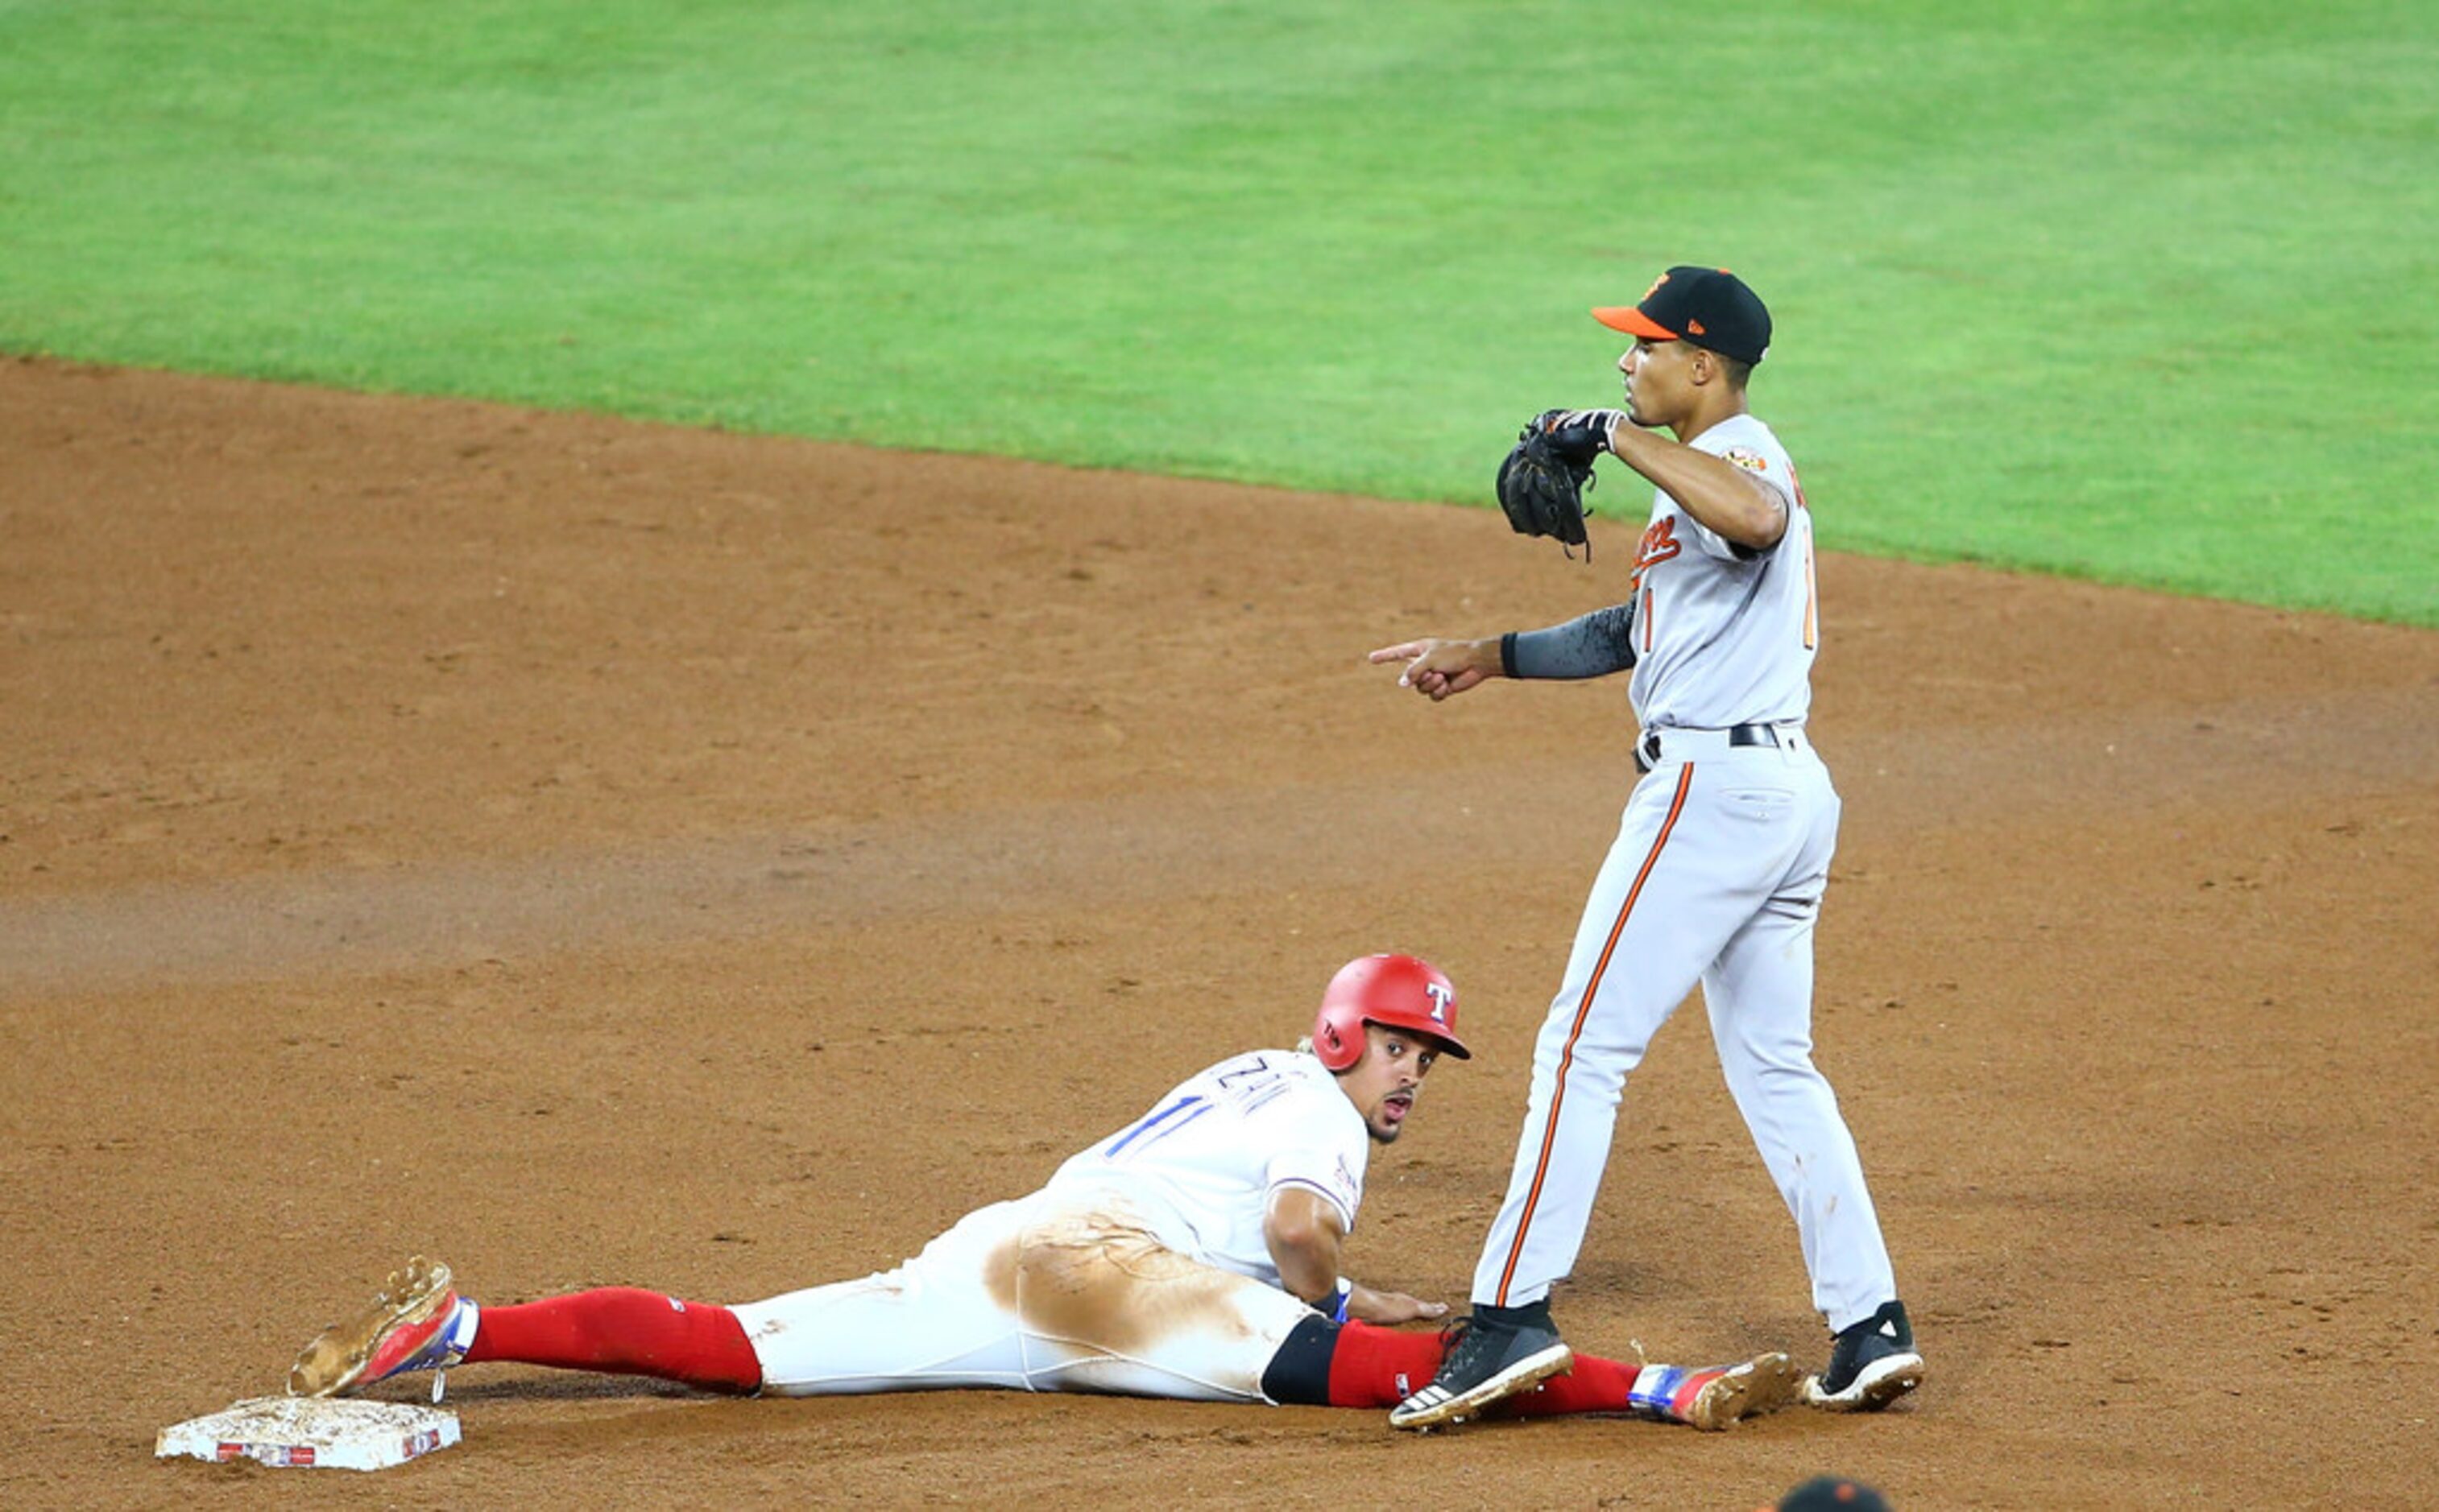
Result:
M1446 1305L1356 1285L1339 1251L1368 1146L1398 1139L1439 1056L1466 1058L1449 978L1415 956L1363 956L1332 978L1307 1044L1188 1078L1041 1190L968 1214L895 1271L744 1307L634 1288L483 1307L446 1266L415 1258L363 1314L305 1346L288 1390L520 1361L717 1393L1390 1407L1446 1346L1383 1324ZM1722 1429L1795 1388L1783 1353L1712 1371L1578 1356L1568 1380L1515 1407Z

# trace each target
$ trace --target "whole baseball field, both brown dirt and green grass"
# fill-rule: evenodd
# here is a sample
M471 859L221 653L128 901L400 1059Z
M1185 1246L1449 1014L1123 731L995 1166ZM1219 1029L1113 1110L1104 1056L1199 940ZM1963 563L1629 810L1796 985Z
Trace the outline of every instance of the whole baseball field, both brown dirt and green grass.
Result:
M2434 1505L2439 29L2415 5L0 0L0 1505ZM1768 295L1846 800L1878 1417L451 1375L156 1463L407 1253L900 1261L1344 958L1456 980L1363 1280L1463 1302L1624 690L1483 507ZM1819 1363L1700 1010L1559 1297ZM422 1378L380 1388L415 1400Z

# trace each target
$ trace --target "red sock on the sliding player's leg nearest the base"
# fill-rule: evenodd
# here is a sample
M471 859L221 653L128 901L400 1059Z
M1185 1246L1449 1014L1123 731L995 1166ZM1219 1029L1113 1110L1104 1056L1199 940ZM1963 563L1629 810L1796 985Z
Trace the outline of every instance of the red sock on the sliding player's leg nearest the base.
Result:
M761 1361L737 1314L632 1285L517 1307L483 1307L466 1363L656 1375L720 1393L761 1390Z

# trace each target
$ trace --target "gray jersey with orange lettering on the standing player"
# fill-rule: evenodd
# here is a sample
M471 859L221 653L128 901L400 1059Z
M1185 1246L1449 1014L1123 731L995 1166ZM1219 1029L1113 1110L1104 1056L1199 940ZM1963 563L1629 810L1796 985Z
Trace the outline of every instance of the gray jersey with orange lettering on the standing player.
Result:
M1812 512L1771 427L1734 415L1690 441L1788 500L1788 532L1746 556L1654 490L1634 554L1634 712L1644 729L1800 724L1812 710L1819 610Z

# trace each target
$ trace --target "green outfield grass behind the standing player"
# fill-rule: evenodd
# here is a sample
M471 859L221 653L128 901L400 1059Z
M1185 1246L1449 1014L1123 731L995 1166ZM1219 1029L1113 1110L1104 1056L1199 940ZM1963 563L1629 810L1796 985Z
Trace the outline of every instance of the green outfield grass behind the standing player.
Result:
M2439 624L2432 80L2427 0L0 0L0 349L1485 502L1719 261L1824 544Z

